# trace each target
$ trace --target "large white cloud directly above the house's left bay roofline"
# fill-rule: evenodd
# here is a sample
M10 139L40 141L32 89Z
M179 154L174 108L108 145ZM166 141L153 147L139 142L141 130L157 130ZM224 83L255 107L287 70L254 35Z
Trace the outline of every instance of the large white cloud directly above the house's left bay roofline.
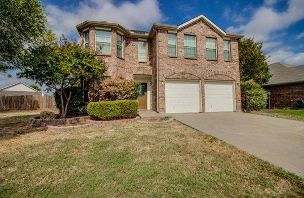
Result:
M72 11L55 5L47 5L50 28L58 35L78 36L75 25L86 20L107 21L133 29L149 29L162 20L163 14L157 0L116 5L112 0L85 0Z

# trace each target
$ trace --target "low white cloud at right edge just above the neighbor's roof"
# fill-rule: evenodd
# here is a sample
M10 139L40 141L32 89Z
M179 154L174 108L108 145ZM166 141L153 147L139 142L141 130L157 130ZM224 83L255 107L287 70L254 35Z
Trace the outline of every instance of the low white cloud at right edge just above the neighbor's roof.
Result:
M304 53L294 53L290 50L279 49L277 51L270 53L270 63L275 62L285 62L292 65L302 65L304 64Z

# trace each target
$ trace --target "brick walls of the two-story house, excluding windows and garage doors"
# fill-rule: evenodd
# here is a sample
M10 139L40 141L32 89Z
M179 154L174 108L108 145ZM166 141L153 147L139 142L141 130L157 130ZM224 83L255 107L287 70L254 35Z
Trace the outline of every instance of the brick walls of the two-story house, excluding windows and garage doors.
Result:
M117 33L111 29L111 55L98 55L108 70L105 75L119 76L133 79L134 75L146 75L151 79L151 109L157 111L157 81L159 111L165 111L165 80L174 79L197 79L201 80L202 111L205 111L204 81L234 81L236 93L236 109L241 110L240 73L238 39L230 39L231 61L224 61L223 36L211 28L203 20L198 20L182 29L177 30L177 56L168 56L168 30L157 29L157 34L147 38L147 62L138 62L138 39L124 36L124 58L117 57ZM184 34L196 35L197 58L184 57L183 36ZM81 32L82 38L83 33ZM217 60L207 60L206 36L217 39ZM95 27L89 27L89 44L95 49ZM158 45L158 46L157 46ZM158 78L157 78L157 49L158 49ZM92 82L90 84L90 96L92 95ZM92 97L91 101L92 101Z

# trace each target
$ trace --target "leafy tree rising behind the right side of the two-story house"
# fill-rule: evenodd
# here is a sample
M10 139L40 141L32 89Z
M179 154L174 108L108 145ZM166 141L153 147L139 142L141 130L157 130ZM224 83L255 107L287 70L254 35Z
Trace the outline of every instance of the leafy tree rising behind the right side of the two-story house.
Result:
M241 81L253 80L262 85L271 77L267 57L262 51L263 44L254 42L253 38L245 38L239 42L239 61Z

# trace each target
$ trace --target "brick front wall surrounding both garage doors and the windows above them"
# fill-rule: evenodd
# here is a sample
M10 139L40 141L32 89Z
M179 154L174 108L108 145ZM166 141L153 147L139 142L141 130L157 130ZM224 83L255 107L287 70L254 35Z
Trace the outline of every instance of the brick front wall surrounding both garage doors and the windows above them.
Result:
M158 30L159 44L159 108L165 111L165 79L200 79L202 81L202 111L205 111L204 81L229 80L236 82L236 108L241 110L238 40L231 39L231 61L224 61L223 37L202 20L177 32L177 57L168 56L168 32ZM197 59L184 58L184 34L196 35ZM206 36L217 38L218 60L205 58ZM163 82L163 84L161 83Z

